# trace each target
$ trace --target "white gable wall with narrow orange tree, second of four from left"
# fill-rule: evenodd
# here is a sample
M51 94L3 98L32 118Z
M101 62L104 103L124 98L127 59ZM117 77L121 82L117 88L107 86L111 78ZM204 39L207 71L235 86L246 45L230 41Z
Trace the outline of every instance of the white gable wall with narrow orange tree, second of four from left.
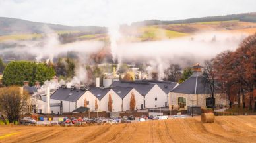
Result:
M122 99L112 89L110 89L110 91L108 91L108 93L100 100L100 110L108 111L109 94L111 94L111 97L113 100L113 103L112 103L113 111L112 112L121 111Z

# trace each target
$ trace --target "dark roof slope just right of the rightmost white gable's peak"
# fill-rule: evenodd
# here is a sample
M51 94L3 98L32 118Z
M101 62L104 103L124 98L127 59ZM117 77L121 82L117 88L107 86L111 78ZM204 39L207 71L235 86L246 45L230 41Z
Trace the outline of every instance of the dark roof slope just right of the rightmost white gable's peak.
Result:
M142 80L143 82L154 83L158 85L166 94L168 94L177 85L177 82L171 81L153 81L153 80Z

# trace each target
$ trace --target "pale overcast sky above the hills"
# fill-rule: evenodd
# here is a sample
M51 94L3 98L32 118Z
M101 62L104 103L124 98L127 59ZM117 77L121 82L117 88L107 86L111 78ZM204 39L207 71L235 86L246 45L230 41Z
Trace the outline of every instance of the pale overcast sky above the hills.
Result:
M69 26L109 26L256 12L255 0L0 0L0 16Z

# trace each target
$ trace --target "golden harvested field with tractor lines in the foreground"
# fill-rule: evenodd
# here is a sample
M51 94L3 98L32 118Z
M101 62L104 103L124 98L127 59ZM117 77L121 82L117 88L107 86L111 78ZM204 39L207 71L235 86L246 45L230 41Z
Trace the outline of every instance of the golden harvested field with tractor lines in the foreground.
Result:
M5 127L0 142L255 142L256 116L199 117L88 127Z

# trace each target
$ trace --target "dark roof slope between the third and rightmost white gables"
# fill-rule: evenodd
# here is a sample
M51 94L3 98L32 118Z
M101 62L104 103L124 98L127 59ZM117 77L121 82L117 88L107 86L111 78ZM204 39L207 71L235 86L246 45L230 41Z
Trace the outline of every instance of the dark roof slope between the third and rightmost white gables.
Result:
M132 87L141 95L146 95L155 84L141 81L114 81L110 87Z

